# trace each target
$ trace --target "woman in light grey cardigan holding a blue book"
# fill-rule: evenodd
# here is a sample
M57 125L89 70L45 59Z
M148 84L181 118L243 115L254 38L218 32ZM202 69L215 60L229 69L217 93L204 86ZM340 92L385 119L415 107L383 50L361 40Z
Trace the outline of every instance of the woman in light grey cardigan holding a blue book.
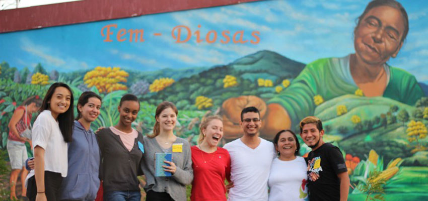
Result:
M153 134L144 136L145 161L142 170L146 175L147 201L187 200L186 185L193 180L192 156L187 140L174 135L178 110L171 102L162 102L156 108ZM155 176L155 154L172 153L172 161L164 161L164 170L171 177Z

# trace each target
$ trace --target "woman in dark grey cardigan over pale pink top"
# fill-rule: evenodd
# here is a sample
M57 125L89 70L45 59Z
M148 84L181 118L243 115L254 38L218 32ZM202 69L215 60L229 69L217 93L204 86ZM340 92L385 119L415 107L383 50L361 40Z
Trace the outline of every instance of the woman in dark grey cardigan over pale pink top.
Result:
M142 134L131 127L140 105L133 94L120 98L119 122L97 132L101 151L100 177L105 201L139 201L141 193L138 175L143 159Z

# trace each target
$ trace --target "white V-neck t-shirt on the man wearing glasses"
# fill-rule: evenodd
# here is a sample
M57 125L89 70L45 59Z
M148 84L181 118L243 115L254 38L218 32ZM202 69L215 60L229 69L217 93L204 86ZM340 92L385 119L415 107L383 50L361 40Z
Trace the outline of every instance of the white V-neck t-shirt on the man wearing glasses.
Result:
M267 200L267 179L270 165L276 157L273 143L260 139L255 149L245 145L241 139L227 143L231 158L231 180L234 183L229 191L229 201Z

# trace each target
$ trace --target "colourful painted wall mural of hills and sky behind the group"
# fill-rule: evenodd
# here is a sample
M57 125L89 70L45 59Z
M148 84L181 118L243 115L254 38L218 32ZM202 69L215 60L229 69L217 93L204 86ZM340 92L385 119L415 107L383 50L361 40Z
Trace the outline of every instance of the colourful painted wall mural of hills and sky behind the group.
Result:
M405 25L394 21L402 16L388 8L357 24L368 3L263 1L0 34L0 147L14 109L61 81L75 103L86 90L103 97L95 130L117 123L125 93L140 100L134 127L144 134L157 104L174 102L176 134L192 144L209 114L224 118L223 143L242 135L247 106L260 109L265 139L281 129L299 133L299 121L314 115L324 141L345 157L349 200L425 200L428 6L401 2L409 21L402 42ZM366 35L373 29L376 36ZM389 46L368 43L376 40ZM386 64L355 69L363 60ZM304 145L300 154L309 151Z

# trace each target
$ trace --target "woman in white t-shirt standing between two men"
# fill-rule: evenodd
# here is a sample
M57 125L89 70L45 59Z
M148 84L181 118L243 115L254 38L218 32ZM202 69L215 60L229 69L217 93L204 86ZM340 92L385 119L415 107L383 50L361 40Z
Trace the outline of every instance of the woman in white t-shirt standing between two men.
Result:
M281 130L273 138L273 144L278 157L273 159L270 168L269 201L309 200L306 162L297 156L300 144L296 134Z

